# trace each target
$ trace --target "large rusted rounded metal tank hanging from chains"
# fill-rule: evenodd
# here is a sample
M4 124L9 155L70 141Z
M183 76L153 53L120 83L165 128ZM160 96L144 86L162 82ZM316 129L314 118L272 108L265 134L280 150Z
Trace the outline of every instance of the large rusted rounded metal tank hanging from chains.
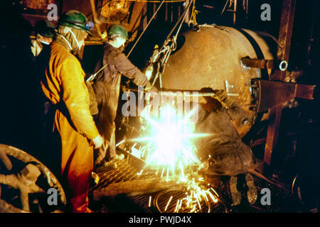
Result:
M238 119L235 126L244 136L255 123L255 90L250 80L269 79L271 70L245 67L243 57L274 59L277 43L271 35L245 29L202 25L187 31L177 41L162 77L164 89L222 89L247 111L249 121ZM180 46L180 48L179 48Z

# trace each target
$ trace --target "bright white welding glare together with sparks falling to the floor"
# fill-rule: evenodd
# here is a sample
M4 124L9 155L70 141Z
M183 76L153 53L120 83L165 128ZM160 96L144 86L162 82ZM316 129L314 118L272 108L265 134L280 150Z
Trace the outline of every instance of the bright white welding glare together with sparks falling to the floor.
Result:
M146 161L146 165L155 168L161 172L161 177L170 180L169 172L172 175L176 170L180 172L177 184L188 185L186 196L178 199L174 212L188 211L190 213L201 212L201 201L204 201L208 212L210 206L218 202L218 194L212 188L201 185L203 178L197 180L188 179L189 175L185 173L186 167L190 165L199 165L200 161L196 156L196 145L193 144L193 138L207 136L209 134L193 133L195 124L191 121L193 111L186 116L178 116L177 110L172 106L163 106L159 111L159 117L149 116L148 109L145 109L143 121L145 125L146 136L132 139L132 142L145 144L139 149L132 146L132 153ZM142 172L137 173L141 175ZM200 186L201 185L201 186ZM171 204L172 196L166 204L166 211ZM151 198L149 199L151 206Z

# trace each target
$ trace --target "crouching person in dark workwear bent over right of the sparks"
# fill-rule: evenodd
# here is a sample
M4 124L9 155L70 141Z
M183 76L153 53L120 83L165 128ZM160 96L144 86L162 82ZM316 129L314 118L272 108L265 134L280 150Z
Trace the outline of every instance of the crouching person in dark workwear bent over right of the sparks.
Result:
M238 178L245 178L247 200L255 204L257 189L252 176L247 172L252 166L252 151L242 142L233 120L238 116L246 117L238 104L223 90L205 88L203 92L214 92L215 96L199 99L196 132L210 135L198 138L198 155L203 162L199 173L214 179L215 186L228 179L228 192L233 205L239 205L241 194L238 191ZM218 183L217 183L218 182Z

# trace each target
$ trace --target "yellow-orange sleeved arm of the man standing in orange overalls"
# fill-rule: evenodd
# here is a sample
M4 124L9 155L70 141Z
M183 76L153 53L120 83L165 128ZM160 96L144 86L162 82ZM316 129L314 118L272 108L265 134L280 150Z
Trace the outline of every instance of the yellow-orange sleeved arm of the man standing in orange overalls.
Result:
M85 85L85 72L80 62L68 59L63 62L60 69L62 99L70 114L71 121L79 133L89 139L99 135L95 122L90 114L89 94Z

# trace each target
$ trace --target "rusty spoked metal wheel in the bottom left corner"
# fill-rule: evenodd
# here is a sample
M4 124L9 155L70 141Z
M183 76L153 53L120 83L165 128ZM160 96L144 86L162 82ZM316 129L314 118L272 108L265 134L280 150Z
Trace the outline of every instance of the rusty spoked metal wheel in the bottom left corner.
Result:
M43 163L0 144L0 213L63 212L65 205L63 187Z

